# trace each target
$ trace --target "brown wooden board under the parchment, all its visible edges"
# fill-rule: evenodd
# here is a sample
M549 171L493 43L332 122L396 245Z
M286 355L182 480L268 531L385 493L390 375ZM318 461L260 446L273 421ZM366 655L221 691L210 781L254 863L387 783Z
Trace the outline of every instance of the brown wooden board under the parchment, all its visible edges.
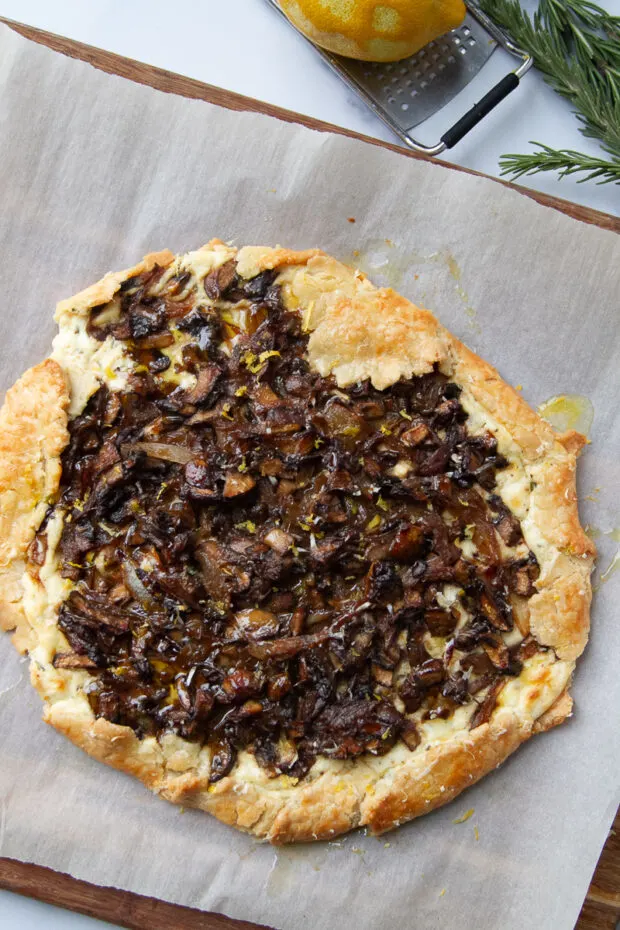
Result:
M380 145L383 148L399 152L408 158L426 158L424 155L410 152L398 145L380 142L377 139L351 132L348 129L312 119L309 116L283 110L268 103L261 103L240 94L233 94L219 87L202 84L192 78L173 74L161 68L154 68L152 65L142 64L130 58L122 58L112 52L73 42L50 32L43 32L31 26L14 23L1 17L0 22L7 23L26 38L47 45L49 48L71 58L86 61L102 71L107 71L109 74L120 75L139 84L147 84L166 93L206 100L231 110L265 113L268 116L274 116L287 122L309 126L311 129L336 132L340 135L362 139L371 145ZM468 174L479 174L479 172L470 171L467 168L453 165L448 167L455 171L465 171ZM486 177L486 175L481 176ZM584 223L591 223L600 226L602 229L620 232L619 217L600 213L597 210L591 210L588 207L582 207L567 200L561 200L558 197L550 197L547 194L541 194L528 188L514 184L509 185L506 181L493 180L497 184L510 186L525 197L531 197L538 203L559 210ZM172 928L175 928L175 930L257 930L258 927L257 924L232 920L220 914L205 913L188 907L167 904L155 898L145 898L142 895L119 891L115 888L100 888L97 885L81 882L68 875L45 869L42 866L16 862L12 859L0 858L0 888L28 895L40 901L66 907L73 911L79 911L90 917L108 920L123 927L129 927L131 930L172 930ZM616 817L614 830L611 831L599 860L576 930L616 930L619 918L620 815Z

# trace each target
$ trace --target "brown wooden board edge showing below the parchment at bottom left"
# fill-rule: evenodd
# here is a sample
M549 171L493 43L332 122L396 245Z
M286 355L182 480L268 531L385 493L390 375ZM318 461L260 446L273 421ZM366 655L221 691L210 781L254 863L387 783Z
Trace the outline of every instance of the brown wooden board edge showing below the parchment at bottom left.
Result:
M128 930L269 930L223 914L170 904L119 888L80 881L41 865L0 858L0 889L77 911Z

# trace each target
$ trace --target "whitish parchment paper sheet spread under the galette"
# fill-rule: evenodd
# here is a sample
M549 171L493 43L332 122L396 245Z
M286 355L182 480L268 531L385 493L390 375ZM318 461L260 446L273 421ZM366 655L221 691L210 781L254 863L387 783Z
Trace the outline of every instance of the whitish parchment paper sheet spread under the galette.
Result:
M491 181L109 77L5 27L0 121L2 388L48 353L58 299L147 251L213 235L320 245L435 309L532 403L591 399L583 514L609 565L620 238ZM381 839L281 851L48 730L2 637L0 854L287 930L569 930L618 803L618 580L599 579L566 725Z

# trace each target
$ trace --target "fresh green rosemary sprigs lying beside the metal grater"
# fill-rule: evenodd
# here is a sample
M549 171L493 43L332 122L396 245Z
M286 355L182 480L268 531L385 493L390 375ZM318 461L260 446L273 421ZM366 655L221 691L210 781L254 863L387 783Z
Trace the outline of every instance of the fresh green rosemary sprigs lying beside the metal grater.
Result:
M505 155L502 174L520 177L559 170L560 177L620 183L620 17L591 0L540 0L533 19L518 0L479 0L517 45L534 57L545 81L573 104L581 132L601 142L609 160L541 145L528 155Z

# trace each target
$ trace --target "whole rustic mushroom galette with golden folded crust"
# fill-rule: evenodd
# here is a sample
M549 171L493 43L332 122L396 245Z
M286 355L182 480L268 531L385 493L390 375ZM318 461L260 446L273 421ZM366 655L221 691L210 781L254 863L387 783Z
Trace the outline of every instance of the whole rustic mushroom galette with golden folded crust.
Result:
M57 320L0 412L0 620L71 740L286 843L426 813L570 714L583 437L429 311L213 240Z

